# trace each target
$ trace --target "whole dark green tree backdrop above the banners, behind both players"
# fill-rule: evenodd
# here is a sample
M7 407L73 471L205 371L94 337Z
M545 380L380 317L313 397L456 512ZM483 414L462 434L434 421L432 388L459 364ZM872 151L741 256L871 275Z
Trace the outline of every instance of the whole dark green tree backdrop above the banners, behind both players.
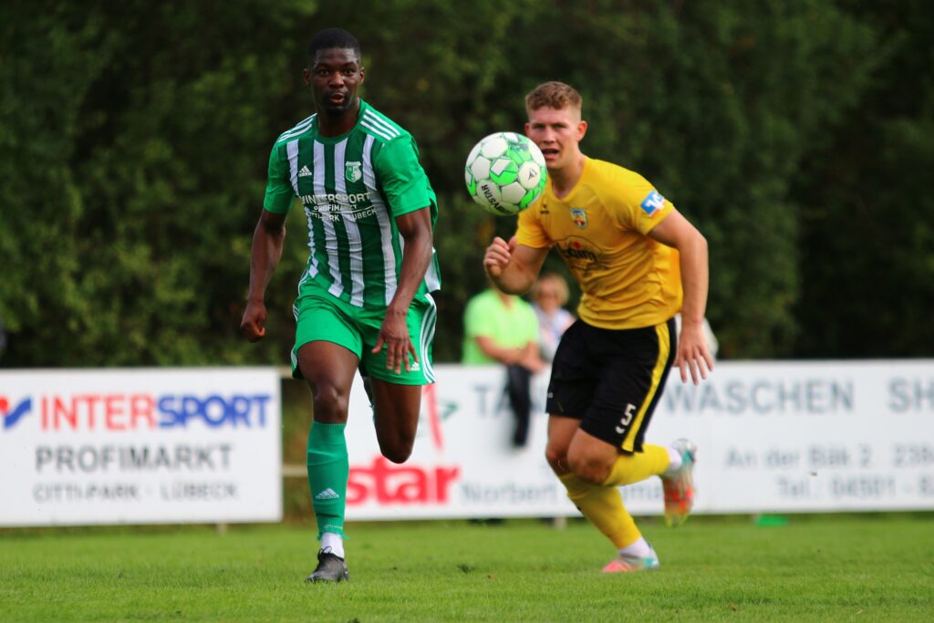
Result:
M515 224L470 202L463 160L520 131L546 79L584 94L587 154L710 240L722 356L929 355L932 23L908 0L6 3L0 364L288 361L300 210L269 337L238 324L268 151L311 112L304 48L329 26L360 38L364 97L417 137L439 193L439 361Z

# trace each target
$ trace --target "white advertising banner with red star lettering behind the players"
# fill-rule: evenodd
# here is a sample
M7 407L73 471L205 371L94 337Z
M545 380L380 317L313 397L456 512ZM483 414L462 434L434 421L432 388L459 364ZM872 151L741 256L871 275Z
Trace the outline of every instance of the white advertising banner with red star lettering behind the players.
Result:
M350 400L348 519L559 517L576 509L545 462L546 375L515 448L495 366L436 366L412 458L383 459L358 385ZM934 509L934 361L721 362L695 387L670 375L646 435L699 446L697 513ZM658 478L622 488L662 512Z

